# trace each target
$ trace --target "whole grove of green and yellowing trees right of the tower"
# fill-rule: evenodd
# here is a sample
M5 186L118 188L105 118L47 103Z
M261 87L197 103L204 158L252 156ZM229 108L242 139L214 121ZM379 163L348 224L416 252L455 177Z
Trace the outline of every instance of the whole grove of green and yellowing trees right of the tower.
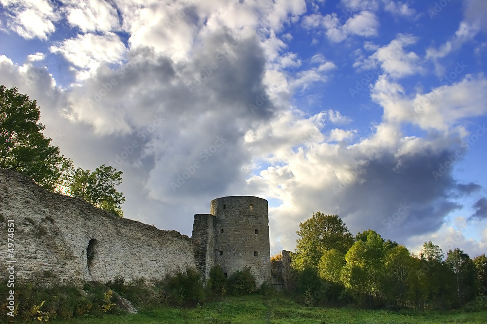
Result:
M471 260L462 250L455 249L444 260L443 250L429 241L415 256L405 246L384 240L371 229L357 233L355 243L343 254L331 247L333 242L342 243L337 231L317 235L319 222L313 216L300 224L298 234L303 238L298 240L300 245L293 255L292 265L303 268L296 272L300 280L292 288L301 300L312 292L314 301L321 303L444 309L468 307L469 302L478 298L479 291L485 291L485 255ZM318 255L316 271L310 265ZM483 282L482 290L478 289L479 281Z

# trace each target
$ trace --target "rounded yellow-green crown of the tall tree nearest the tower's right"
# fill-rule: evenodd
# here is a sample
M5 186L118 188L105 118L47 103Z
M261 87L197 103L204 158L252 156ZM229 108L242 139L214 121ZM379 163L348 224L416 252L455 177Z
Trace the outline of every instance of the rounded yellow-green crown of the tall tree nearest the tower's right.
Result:
M300 223L297 233L301 238L297 240L292 266L299 271L307 267L318 271L324 251L336 249L345 254L354 243L354 237L338 215L324 215L319 211Z

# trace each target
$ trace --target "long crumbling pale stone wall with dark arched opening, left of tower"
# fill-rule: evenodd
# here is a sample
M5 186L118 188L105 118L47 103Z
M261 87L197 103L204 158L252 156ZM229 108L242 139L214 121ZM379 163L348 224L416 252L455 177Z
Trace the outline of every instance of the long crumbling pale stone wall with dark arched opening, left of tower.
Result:
M160 279L196 267L195 244L176 231L113 216L81 199L49 192L0 170L0 259L15 221L17 280L50 283ZM1 276L6 265L0 264Z

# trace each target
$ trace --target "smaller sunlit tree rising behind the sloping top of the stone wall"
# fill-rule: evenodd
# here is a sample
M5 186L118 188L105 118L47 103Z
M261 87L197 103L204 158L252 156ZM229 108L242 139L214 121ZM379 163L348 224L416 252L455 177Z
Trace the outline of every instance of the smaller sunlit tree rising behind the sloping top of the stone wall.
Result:
M115 189L115 186L122 183L122 173L122 171L116 171L112 166L107 167L104 164L93 172L78 168L67 190L68 194L123 217L120 205L125 202L125 197L123 192Z

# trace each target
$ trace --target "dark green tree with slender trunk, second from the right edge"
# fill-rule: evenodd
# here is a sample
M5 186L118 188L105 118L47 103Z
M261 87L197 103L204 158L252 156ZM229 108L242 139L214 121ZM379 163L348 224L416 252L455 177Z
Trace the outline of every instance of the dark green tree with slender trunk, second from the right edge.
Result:
M477 269L468 254L458 248L448 251L445 263L455 273L458 306L461 307L477 294Z

